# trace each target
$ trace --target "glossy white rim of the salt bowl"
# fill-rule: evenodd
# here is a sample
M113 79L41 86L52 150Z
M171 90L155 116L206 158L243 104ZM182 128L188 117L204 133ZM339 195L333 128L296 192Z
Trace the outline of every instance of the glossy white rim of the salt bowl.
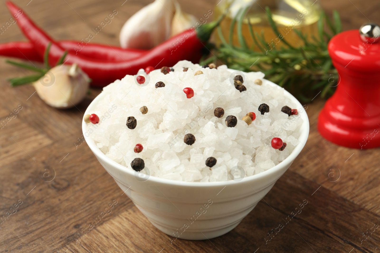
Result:
M228 71L230 71L232 73L232 72L237 71L237 70L228 68ZM240 72L246 73L244 71L240 71ZM263 80L265 80L271 86L276 86L278 88L282 88L279 85L277 85L277 84L275 84L275 83L273 83L267 79L263 78ZM285 93L285 96L290 98L291 101L294 102L298 108L303 108L301 103L292 94L290 94L287 90L284 89L284 93ZM101 93L97 97L95 97L95 99L93 99L93 101L87 107L84 115L90 114L91 108L94 107L95 104L100 99L103 98L103 96L105 96L104 94L105 94L105 92L102 90ZM307 116L305 109L303 110L303 112L300 113L300 116L303 119L303 123L300 126L300 135L298 137L298 140L300 143L293 149L293 151L289 154L289 156L287 158L285 158L282 162L280 162L279 164L275 165L274 167L272 167L266 171L260 172L258 174L254 174L252 176L246 176L241 181L227 180L227 181L216 181L216 182L188 182L188 181L177 181L177 180L173 180L173 179L158 178L156 176L151 176L151 175L149 176L149 179L147 179L147 181L166 184L166 185L187 186L187 187L200 187L200 186L214 187L214 186L226 186L226 185L242 184L243 182L260 180L260 179L263 179L267 176L275 175L279 171L281 171L285 166L287 166L287 165L290 166L291 163L293 163L294 159L296 159L296 157L302 151L303 147L306 145L306 141L307 141L307 138L309 136L310 126L309 126L309 118ZM135 177L135 171L133 169L127 168L127 167L121 165L120 163L115 162L111 158L107 157L102 151L100 151L98 146L95 145L95 142L92 140L92 138L85 136L85 133L87 132L87 123L84 122L83 120L82 120L82 132L83 132L83 137L85 138L87 145L89 146L89 148L91 149L93 154L95 154L95 156L98 159L102 159L104 162L108 163L108 165L116 168L117 170L119 170L122 173L127 173L129 176Z

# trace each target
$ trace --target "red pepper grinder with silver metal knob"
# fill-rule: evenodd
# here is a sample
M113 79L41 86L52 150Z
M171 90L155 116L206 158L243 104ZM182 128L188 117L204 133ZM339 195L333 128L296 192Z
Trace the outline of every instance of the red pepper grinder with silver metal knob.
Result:
M380 146L380 27L368 23L334 36L328 51L339 74L318 116L318 131L348 148Z

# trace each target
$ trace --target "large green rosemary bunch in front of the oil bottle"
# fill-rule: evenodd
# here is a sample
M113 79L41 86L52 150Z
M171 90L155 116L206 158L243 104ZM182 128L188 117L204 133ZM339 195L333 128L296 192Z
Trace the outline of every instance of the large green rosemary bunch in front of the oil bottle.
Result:
M215 49L213 57L204 62L209 63L217 59L222 60L229 68L241 71L261 71L265 78L284 87L299 100L310 102L312 98L321 93L321 97L330 96L334 92L337 83L337 71L332 66L331 58L327 51L327 44L332 36L341 31L340 18L337 11L333 12L333 22L325 13L321 13L318 21L318 38L312 36L310 39L307 34L294 29L302 42L302 46L291 46L277 30L272 19L271 10L266 7L269 25L278 35L279 39L286 47L273 47L265 41L263 33L259 35L253 31L248 19L249 34L253 39L253 45L249 48L242 35L242 20L247 8L241 9L231 22L228 42L222 35L220 27L217 28L218 35L222 44ZM232 44L232 36L237 29L237 38L240 46ZM328 29L324 29L325 22ZM260 51L254 51L253 47ZM202 63L201 63L202 64ZM332 82L334 80L334 82Z

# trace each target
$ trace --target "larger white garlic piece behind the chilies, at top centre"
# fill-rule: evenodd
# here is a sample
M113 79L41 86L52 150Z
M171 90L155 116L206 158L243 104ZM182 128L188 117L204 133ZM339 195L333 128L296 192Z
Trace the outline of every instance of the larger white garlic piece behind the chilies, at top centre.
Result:
M173 0L155 0L133 14L120 31L122 48L150 49L170 37Z

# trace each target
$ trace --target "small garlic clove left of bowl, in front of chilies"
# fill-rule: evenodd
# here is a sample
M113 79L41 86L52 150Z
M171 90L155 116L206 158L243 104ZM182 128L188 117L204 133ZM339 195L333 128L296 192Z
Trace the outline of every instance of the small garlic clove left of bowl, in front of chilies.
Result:
M89 89L89 77L78 65L58 65L33 82L40 98L56 108L70 108L81 102Z

